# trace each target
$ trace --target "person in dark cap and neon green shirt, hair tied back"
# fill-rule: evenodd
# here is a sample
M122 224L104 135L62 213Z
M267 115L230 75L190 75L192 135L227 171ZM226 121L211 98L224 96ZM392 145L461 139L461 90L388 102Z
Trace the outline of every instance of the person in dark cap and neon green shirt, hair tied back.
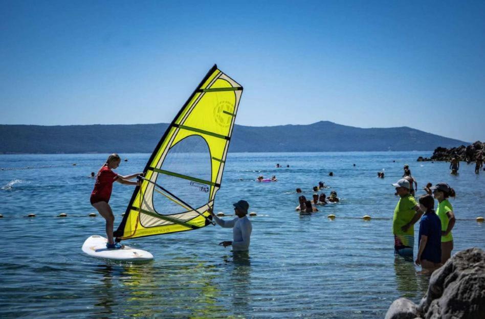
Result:
M452 189L446 183L438 183L431 187L434 198L438 200L438 209L436 215L441 220L441 262L444 264L451 257L451 251L453 250L453 235L451 230L455 225L455 214L453 213L453 207L448 201L448 197L455 197L455 190Z

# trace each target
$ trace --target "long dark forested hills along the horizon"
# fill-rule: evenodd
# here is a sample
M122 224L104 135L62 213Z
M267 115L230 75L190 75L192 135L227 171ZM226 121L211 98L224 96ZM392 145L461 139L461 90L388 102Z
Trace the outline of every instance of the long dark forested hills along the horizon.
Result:
M151 153L168 124L0 125L0 154ZM359 128L328 121L309 125L235 125L230 152L432 151L470 143L410 127Z

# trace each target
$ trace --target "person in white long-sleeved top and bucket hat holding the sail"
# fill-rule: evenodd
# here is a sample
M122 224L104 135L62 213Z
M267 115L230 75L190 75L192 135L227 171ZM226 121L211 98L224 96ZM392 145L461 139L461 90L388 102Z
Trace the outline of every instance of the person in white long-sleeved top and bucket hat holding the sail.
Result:
M248 219L249 203L246 200L239 200L233 204L236 218L233 220L224 220L215 216L212 210L209 213L214 218L215 222L222 227L232 228L233 241L223 241L219 245L224 247L232 245L234 252L245 252L249 250L249 239L251 237L251 231L253 226Z

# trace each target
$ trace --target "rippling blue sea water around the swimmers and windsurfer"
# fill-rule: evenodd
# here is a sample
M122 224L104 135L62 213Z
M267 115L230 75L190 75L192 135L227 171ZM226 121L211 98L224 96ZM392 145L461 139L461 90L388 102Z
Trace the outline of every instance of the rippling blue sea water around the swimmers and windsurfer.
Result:
M485 172L476 175L474 164L462 163L452 176L447 163L415 162L420 155L431 154L230 153L215 212L232 214L233 202L249 201L257 213L249 258L234 258L218 246L232 240L232 230L210 225L127 241L155 256L146 264L111 263L81 252L87 237L104 236L104 219L87 215L95 212L88 176L106 155L0 155L0 317L382 318L396 298L420 300L429 281L393 254L398 198L390 184L404 164L418 181L418 194L428 181L456 190L454 252L485 248L485 223L475 221L485 215ZM121 156L128 162L117 172L127 175L143 170L149 154ZM26 167L35 168L12 169ZM258 175L279 181L256 183ZM300 216L295 189L310 198L320 180L341 203ZM114 186L116 226L132 192L131 186ZM37 217L24 217L30 213ZM57 218L59 213L68 217ZM417 230L416 224L416 237ZM416 253L417 238L415 245Z

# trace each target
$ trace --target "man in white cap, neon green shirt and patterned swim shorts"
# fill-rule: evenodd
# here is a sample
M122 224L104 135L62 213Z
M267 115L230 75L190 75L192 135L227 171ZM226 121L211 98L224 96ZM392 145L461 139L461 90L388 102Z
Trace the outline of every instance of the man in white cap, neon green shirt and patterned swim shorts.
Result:
M414 224L420 220L423 211L410 194L410 184L407 179L400 179L392 184L400 199L394 209L392 218L392 233L394 234L394 252L412 261L414 247Z

